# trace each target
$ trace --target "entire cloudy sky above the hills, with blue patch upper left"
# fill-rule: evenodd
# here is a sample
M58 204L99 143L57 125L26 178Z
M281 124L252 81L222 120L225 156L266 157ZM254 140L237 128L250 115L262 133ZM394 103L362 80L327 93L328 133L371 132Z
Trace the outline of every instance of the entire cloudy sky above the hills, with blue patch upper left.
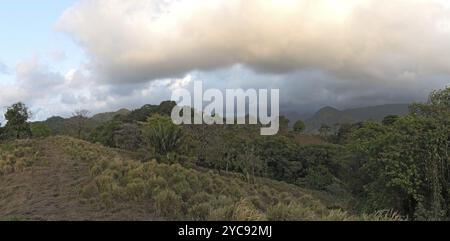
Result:
M282 110L425 101L450 84L445 0L5 0L0 122L278 88Z

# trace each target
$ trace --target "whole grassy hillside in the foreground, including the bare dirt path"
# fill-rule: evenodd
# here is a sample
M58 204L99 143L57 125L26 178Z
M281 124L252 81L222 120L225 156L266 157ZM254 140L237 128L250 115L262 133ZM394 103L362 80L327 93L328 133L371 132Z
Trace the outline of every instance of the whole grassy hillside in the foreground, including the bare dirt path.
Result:
M353 220L313 191L193 164L138 162L133 153L69 137L0 146L2 220ZM394 217L395 218L395 217Z

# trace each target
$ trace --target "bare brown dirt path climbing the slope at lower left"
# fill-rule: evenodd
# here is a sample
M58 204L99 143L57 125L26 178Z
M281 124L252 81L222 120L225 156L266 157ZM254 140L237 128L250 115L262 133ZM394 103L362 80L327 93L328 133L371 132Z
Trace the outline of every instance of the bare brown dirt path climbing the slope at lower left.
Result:
M48 141L39 143L42 163L0 177L0 219L146 220L146 207L125 204L107 209L99 200L82 201L81 187L92 181L89 163L73 160Z

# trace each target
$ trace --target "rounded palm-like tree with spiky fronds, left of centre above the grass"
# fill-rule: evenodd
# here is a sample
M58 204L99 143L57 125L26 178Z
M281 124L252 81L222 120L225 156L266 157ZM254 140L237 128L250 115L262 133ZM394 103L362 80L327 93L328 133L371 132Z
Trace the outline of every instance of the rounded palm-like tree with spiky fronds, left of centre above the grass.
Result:
M159 155L179 150L184 137L181 127L172 123L169 117L154 115L143 123L144 138Z

